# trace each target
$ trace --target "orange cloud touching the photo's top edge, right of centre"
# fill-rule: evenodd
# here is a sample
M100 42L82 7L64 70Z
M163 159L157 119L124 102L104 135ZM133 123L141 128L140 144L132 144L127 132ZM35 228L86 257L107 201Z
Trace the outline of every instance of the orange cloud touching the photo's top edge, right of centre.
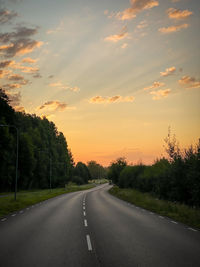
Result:
M131 7L118 12L115 17L119 20L131 20L136 17L137 13L151 9L159 5L155 0L130 0Z

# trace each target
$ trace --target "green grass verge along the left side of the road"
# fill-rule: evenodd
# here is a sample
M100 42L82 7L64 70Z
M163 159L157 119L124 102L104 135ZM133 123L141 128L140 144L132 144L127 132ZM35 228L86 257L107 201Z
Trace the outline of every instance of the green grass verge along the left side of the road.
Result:
M38 190L38 191L22 191L17 193L16 201L14 200L14 193L13 193L12 195L0 198L0 218L14 211L24 209L28 206L34 205L38 202L47 200L49 198L53 198L58 195L70 192L87 190L93 187L94 185L92 184L78 186L70 183L66 185L65 188L55 188L52 189L51 191L49 189Z

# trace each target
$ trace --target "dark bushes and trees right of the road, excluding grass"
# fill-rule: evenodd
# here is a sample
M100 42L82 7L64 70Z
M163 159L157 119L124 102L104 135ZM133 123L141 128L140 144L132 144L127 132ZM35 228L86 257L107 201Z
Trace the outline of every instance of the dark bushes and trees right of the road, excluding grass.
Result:
M135 188L169 201L200 207L200 140L195 147L180 150L171 133L165 139L168 158L151 166L129 165L124 158L113 162L108 178L121 188Z

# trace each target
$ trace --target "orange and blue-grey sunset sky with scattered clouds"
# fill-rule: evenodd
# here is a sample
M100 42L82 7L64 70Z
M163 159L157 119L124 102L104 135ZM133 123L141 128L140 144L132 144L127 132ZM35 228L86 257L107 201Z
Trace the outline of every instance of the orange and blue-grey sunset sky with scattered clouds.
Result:
M152 164L200 138L199 0L0 0L0 86L75 162Z

